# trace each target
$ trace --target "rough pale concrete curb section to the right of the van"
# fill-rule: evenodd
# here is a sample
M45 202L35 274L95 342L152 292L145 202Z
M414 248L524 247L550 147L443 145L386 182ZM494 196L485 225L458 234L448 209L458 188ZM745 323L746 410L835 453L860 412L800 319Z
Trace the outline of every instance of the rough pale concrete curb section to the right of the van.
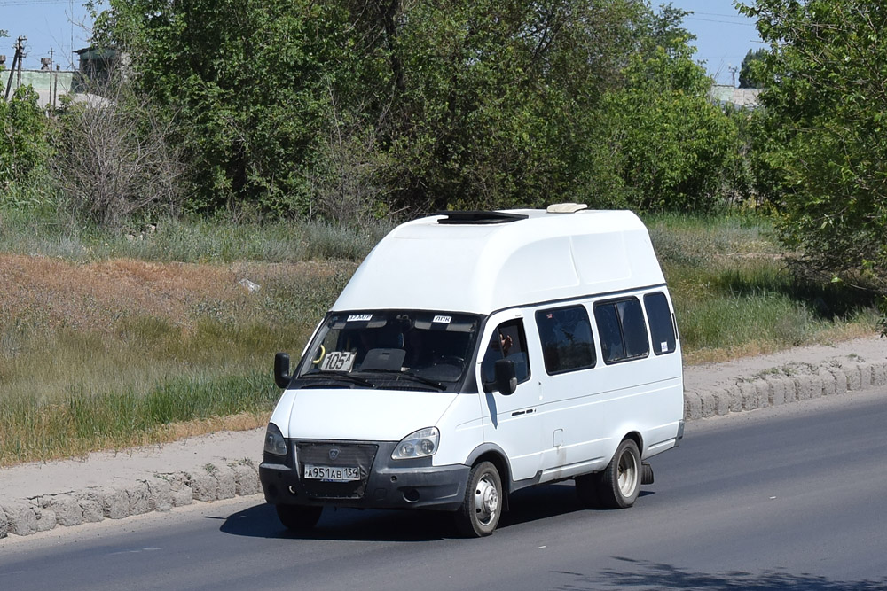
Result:
M733 385L684 393L684 418L693 421L757 408L778 407L887 385L887 362L828 362L816 367L791 364Z

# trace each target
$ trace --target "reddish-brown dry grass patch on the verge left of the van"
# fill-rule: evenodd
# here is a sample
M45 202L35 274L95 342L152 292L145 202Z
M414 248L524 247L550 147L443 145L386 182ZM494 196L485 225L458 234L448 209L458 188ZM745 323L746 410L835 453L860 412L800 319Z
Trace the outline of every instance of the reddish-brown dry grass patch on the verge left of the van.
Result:
M193 311L214 302L248 307L251 293L239 284L328 278L329 264L232 263L198 265L119 259L78 264L60 259L0 255L0 319L35 328L112 330L123 317L161 318L190 327Z

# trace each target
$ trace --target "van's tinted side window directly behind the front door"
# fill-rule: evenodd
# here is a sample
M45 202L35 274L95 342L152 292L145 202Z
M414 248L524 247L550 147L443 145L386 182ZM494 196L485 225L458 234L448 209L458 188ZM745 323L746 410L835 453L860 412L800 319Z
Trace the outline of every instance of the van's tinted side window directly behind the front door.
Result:
M539 310L536 326L549 376L594 367L592 323L584 306Z

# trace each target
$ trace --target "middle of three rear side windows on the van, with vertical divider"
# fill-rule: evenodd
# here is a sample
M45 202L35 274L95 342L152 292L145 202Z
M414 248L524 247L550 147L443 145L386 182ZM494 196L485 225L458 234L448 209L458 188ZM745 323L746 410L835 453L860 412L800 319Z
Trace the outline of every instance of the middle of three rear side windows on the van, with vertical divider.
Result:
M650 346L647 323L637 298L616 299L594 305L604 362L616 363L646 357Z

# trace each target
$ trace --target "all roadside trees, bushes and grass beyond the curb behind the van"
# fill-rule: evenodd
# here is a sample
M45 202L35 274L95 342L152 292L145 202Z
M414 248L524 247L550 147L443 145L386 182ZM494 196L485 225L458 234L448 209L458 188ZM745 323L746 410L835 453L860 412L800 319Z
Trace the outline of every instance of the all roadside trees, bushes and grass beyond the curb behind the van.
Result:
M543 4L100 4L94 101L0 100L0 465L263 424L273 353L444 209L636 211L687 362L887 333L887 12L737 3L749 111L687 12Z

